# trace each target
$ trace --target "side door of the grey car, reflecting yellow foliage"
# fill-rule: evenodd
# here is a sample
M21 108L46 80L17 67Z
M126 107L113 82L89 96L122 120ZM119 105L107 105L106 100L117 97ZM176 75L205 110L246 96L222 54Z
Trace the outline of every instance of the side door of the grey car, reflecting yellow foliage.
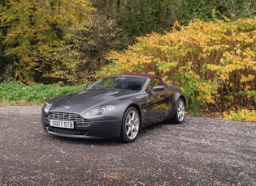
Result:
M170 92L163 86L161 79L152 78L146 88L146 94L147 103L143 106L143 125L163 123L167 119L168 110L171 108Z

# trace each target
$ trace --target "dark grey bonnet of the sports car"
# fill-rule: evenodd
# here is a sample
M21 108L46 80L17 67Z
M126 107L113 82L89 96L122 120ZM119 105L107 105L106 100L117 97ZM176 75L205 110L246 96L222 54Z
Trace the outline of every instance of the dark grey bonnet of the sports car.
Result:
M89 109L113 104L118 99L125 99L137 94L134 91L85 90L54 99L51 112L81 113Z

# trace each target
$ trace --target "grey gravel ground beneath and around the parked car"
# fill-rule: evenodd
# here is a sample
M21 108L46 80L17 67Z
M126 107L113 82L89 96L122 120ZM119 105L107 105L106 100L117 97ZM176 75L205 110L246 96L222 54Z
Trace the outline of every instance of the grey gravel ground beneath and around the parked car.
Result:
M41 107L0 107L0 185L256 185L256 123L186 116L136 142L53 137Z

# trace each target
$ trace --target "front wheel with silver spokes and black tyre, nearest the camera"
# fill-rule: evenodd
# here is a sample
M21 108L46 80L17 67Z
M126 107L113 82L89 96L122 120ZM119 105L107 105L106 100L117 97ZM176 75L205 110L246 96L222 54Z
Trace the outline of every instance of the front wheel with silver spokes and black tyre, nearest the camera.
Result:
M124 142L134 142L141 128L141 117L136 108L130 107L124 113L121 137Z

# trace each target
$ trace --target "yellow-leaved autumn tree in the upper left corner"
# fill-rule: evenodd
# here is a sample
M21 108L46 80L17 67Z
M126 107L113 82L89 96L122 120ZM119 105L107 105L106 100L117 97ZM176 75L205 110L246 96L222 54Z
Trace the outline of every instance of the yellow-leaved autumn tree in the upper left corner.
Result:
M8 0L0 6L2 66L14 67L14 78L28 83L43 74L47 64L58 61L53 56L68 28L85 21L91 11L87 0Z

